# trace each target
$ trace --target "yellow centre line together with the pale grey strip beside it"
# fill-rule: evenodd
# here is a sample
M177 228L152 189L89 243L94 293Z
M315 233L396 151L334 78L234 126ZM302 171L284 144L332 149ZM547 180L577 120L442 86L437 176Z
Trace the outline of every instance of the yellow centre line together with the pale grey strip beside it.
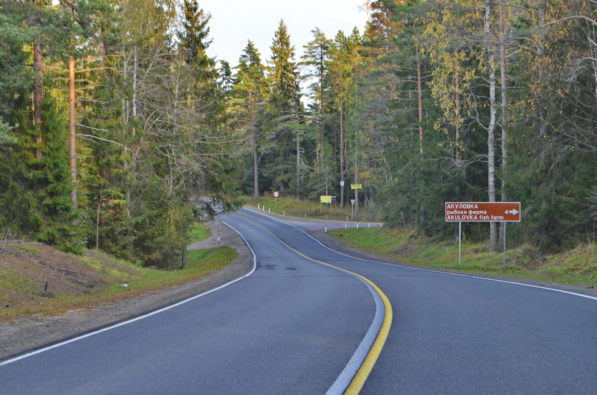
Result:
M361 344L359 344L359 347L357 347L355 353L350 358L349 362L346 364L346 367L344 368L344 370L338 376L336 381L334 381L334 384L331 385L331 387L328 389L328 391L326 393L326 394L330 394L330 395L331 394L341 394L341 393L358 394L359 391L361 391L361 388L363 387L363 385L365 384L365 381L367 381L367 378L369 377L369 374L371 373L371 369L373 369L373 366L377 362L377 358L379 357L379 354L381 353L381 349L383 348L383 345L386 342L387 335L390 332L390 326L392 326L392 304L390 304L390 301L388 300L386 295L381 291L381 289L378 288L377 285L375 285L373 282L371 282L371 280L367 279L366 277L361 276L361 274L357 274L357 273L354 273L353 271L342 269L341 267L338 267L338 266L334 266L333 264L325 263L325 262L316 260L314 258L307 257L307 255L303 254L302 252L298 251L297 249L292 248L290 245L288 245L282 239L280 239L278 236L276 236L275 233L273 233L271 230L267 229L263 225L256 223L255 221L250 220L247 217L242 217L242 215L238 215L238 214L234 214L234 215L236 215L237 217L240 217L240 218L244 218L245 220L250 221L250 222L262 227L263 229L267 230L267 232L271 233L273 235L273 237L276 237L276 239L278 239L279 242L281 242L282 244L284 244L285 246L287 246L288 248L290 248L291 250L296 252L298 255L301 255L301 257L307 258L310 261L317 262L317 263L323 264L325 266L333 267L334 269L344 271L345 273L350 273L353 276L357 277L358 279L361 279L361 281L365 282L365 285L368 286L370 291L372 288L374 291L376 291L379 299L377 299L376 294L373 291L371 291L371 294L373 294L374 298L376 299L376 318L374 318L373 323L371 323L371 326L369 327L369 330L367 331L367 334L365 334L365 337L361 341ZM298 229L298 230L300 230L300 229ZM332 251L334 251L334 250L332 250ZM379 301L381 301L383 303L384 314L383 314L383 321L381 322L381 325L376 325L376 324L378 324L378 320L381 320L381 311L379 308L377 308L380 305ZM377 319L377 321L376 321L376 319ZM375 335L375 332L377 332L377 335ZM373 337L375 337L374 340L373 340ZM367 354L364 354L364 351L367 351Z

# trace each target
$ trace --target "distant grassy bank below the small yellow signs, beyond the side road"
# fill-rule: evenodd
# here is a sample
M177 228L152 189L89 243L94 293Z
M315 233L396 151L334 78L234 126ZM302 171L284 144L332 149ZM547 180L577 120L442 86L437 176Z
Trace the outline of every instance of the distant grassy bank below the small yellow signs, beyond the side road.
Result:
M365 207L361 202L358 212L352 212L348 205L340 208L340 204L334 201L331 204L319 204L307 199L296 200L291 196L281 196L276 199L272 195L261 196L259 199L245 198L246 204L254 208L263 208L265 211L271 210L277 214L290 215L291 217L306 217L316 219L330 219L338 221L360 221L360 222L378 222L381 220L381 211L374 205Z

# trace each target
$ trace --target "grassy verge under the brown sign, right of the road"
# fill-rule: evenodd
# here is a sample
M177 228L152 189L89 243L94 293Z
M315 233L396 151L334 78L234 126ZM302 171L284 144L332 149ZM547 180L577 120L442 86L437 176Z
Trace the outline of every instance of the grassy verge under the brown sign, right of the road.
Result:
M361 251L373 252L416 266L495 274L550 282L597 286L597 246L578 246L556 255L540 255L530 246L520 246L503 253L487 251L487 245L463 242L461 266L458 244L420 237L408 230L382 228L342 229L328 235Z

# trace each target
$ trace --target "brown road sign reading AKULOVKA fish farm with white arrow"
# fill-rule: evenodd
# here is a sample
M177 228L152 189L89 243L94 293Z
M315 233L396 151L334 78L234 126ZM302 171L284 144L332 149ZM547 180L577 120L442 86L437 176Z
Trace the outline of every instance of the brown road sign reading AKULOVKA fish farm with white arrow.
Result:
M446 222L520 222L521 203L445 203Z

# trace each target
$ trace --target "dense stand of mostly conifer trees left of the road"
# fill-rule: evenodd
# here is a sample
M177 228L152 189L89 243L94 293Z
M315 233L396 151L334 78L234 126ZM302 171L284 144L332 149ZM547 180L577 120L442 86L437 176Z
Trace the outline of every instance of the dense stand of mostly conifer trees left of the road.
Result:
M180 262L193 218L239 205L237 139L225 126L223 88L206 53L209 15L195 1L183 2L181 13L174 1L0 7L8 43L0 68L14 74L0 79L2 230L68 251L101 248L162 267ZM35 72L27 67L32 48L43 62ZM77 206L70 199L69 55ZM31 121L35 90L38 123Z

